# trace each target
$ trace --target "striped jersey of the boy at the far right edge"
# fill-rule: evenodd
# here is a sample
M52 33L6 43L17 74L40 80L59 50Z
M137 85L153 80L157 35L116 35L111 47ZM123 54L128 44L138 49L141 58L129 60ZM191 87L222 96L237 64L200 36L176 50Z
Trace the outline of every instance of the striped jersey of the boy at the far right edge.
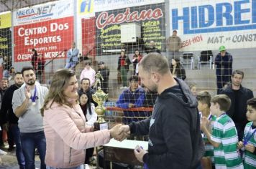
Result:
M248 122L244 128L244 140L247 140L253 132L256 130L252 129L252 122ZM247 144L251 144L256 147L256 133L250 137ZM255 169L256 168L256 155L250 153L250 151L244 150L244 169Z

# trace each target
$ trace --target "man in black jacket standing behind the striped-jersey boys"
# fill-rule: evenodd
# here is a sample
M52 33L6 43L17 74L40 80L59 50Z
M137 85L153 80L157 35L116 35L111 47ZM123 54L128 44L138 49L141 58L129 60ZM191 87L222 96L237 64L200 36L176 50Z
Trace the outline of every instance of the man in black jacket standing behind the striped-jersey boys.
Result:
M244 136L244 127L247 124L247 100L253 98L252 90L242 87L242 79L244 79L244 72L241 70L234 70L232 72L232 84L220 90L220 94L225 94L231 99L231 106L227 115L232 118L234 125L237 128L239 141L242 141Z

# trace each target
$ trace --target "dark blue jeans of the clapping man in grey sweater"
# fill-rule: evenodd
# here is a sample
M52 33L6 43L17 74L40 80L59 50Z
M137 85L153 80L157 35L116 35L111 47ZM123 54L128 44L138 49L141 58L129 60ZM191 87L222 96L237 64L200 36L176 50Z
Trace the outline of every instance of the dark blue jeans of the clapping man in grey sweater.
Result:
M35 168L35 148L37 148L41 160L40 168L45 169L45 132L21 132L20 138L22 140L22 151L25 157L26 169Z

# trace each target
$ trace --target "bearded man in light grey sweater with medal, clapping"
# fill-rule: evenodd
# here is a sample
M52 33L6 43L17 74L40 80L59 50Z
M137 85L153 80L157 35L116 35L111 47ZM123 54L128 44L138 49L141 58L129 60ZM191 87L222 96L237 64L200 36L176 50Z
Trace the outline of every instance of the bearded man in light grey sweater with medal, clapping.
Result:
M19 117L20 139L26 168L35 168L35 148L41 160L41 169L45 169L46 140L40 108L47 95L47 87L35 83L35 71L32 67L22 68L25 84L14 91L12 108Z

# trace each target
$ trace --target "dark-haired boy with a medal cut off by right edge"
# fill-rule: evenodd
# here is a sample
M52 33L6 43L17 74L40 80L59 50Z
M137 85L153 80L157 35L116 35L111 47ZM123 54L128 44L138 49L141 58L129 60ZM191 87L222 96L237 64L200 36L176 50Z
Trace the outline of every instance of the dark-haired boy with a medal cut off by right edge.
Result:
M244 139L238 148L244 150L244 169L256 168L256 98L247 101L247 120L244 128Z

